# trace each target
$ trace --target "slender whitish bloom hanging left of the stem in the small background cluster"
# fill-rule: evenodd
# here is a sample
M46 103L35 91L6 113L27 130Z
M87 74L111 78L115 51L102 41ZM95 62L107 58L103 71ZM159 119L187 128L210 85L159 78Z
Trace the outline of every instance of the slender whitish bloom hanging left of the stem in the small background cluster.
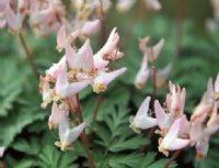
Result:
M143 55L141 67L136 76L135 86L137 89L142 89L149 77L148 58Z

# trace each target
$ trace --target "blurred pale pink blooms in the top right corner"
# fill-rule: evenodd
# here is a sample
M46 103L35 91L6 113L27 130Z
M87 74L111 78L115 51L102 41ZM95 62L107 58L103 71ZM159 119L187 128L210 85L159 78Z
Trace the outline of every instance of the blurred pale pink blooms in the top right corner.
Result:
M210 31L218 30L219 24L219 0L211 0L211 5L214 10L214 19L207 19L207 27Z

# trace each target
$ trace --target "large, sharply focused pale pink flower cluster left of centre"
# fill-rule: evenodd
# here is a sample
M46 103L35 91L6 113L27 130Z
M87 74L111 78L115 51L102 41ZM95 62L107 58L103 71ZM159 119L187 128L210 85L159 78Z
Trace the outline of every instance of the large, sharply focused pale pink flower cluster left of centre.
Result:
M46 70L45 77L41 77L39 89L43 96L42 107L46 108L53 102L49 116L49 128L59 125L60 142L56 145L62 150L68 149L71 143L84 128L84 123L71 128L68 122L69 109L73 113L78 109L77 94L92 86L96 93L105 91L107 85L120 76L126 68L112 70L110 63L114 63L124 56L118 51L119 35L116 29L111 32L105 45L93 54L90 40L78 49L72 46L71 34L66 32L65 25L57 36L57 48L65 49L65 55L57 63Z

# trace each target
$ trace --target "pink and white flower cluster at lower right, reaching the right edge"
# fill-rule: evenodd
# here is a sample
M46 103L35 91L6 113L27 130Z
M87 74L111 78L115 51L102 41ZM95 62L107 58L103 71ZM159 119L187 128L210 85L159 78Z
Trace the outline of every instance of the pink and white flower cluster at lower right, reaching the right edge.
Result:
M130 127L140 133L158 125L160 134L159 152L169 156L170 150L182 149L188 145L196 147L197 158L207 155L210 136L219 130L219 74L212 86L210 79L207 91L200 103L195 108L191 120L184 114L185 89L170 82L170 93L162 107L154 101L154 116L149 113L150 97L141 103L136 116L130 119Z

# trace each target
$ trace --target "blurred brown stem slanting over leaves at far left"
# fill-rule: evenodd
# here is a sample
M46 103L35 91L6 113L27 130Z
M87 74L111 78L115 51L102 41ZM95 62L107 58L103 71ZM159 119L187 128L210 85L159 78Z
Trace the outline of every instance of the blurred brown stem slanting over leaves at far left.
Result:
M19 34L19 38L20 38L22 47L23 47L23 49L25 52L26 59L27 59L27 61L28 61L28 64L31 66L32 72L33 72L34 77L36 79L38 79L38 74L37 74L37 70L36 70L36 65L34 64L32 53L31 53L30 48L27 47L27 44L26 44L25 38L24 38L24 36L23 36L22 33Z

